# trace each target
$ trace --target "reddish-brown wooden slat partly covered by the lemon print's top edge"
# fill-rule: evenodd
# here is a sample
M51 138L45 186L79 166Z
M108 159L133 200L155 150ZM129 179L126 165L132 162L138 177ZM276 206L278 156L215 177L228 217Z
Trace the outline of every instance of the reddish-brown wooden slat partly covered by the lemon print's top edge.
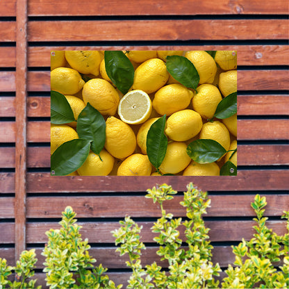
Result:
M3 47L7 49L7 47ZM237 50L238 65L289 65L288 45L208 45L151 47L29 47L29 67L50 67L53 50ZM8 50L8 49L7 49ZM11 50L11 49L10 49ZM10 51L9 50L9 51ZM1 53L1 50L0 50ZM282 57L280 57L282 55ZM1 57L1 54L0 54Z

